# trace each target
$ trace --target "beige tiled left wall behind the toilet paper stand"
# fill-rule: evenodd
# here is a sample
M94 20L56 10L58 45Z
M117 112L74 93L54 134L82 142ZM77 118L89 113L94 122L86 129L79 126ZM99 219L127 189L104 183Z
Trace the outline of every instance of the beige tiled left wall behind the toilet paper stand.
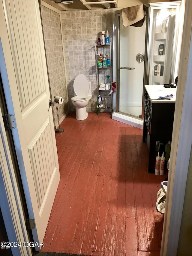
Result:
M41 5L41 16L45 40L46 58L48 65L49 81L52 101L54 96L64 99L63 104L58 104L59 120L68 112L67 86L64 72L64 57L61 39L60 14ZM56 106L53 108L55 125L58 126Z

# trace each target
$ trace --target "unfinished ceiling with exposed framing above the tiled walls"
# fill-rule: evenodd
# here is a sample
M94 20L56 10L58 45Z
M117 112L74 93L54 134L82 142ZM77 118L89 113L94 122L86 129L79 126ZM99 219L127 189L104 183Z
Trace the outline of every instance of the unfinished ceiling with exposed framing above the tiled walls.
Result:
M73 3L63 4L62 0L43 0L60 11L95 10L117 8L118 0L73 0Z

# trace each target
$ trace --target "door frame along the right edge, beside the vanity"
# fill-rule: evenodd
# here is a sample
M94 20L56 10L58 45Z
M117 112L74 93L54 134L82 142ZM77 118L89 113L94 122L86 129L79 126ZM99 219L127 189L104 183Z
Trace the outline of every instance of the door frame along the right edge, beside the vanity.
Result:
M184 1L183 1L184 3ZM192 145L192 1L185 1L161 256L176 255Z

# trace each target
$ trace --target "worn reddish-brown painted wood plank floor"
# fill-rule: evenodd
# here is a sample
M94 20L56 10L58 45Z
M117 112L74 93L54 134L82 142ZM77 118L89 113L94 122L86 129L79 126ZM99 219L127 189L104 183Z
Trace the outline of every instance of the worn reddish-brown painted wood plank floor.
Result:
M56 134L61 180L41 251L91 256L158 256L164 215L160 183L148 173L143 130L88 113L68 115Z

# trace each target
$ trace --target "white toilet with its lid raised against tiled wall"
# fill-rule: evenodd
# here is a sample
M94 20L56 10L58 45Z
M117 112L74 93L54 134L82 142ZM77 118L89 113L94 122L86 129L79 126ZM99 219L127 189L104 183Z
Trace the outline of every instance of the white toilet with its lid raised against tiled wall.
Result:
M71 98L71 101L76 107L76 119L84 120L88 116L86 107L92 97L91 82L85 75L79 74L74 80L73 89L75 96Z

